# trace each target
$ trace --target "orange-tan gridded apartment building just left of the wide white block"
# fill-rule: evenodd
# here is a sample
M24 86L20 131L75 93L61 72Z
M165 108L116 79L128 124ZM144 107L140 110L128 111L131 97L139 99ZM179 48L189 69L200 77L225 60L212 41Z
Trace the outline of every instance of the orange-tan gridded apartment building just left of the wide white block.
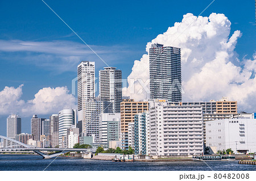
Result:
M133 99L123 99L121 102L121 142L122 149L128 149L128 124L134 123L134 116L148 111L148 102L134 102Z

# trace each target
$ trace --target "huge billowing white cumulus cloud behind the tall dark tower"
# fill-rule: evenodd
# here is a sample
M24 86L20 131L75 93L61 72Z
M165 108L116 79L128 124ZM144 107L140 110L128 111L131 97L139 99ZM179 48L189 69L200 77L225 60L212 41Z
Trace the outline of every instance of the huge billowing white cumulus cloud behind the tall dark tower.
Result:
M256 56L254 60L238 60L234 48L242 33L235 31L230 36L230 26L224 14L197 18L188 13L181 22L147 43L147 52L152 43L181 48L183 101L218 100L228 96L238 101L240 110L254 111L251 108L256 102L251 98L256 98ZM135 100L149 97L142 89L149 82L147 54L140 61L134 61L127 79L129 86L123 89L123 95Z

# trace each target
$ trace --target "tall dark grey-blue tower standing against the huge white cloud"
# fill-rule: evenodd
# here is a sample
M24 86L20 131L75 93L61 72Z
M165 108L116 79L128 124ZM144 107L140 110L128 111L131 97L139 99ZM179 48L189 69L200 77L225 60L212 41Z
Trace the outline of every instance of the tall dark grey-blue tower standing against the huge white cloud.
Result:
M181 101L180 48L152 44L150 58L150 98Z

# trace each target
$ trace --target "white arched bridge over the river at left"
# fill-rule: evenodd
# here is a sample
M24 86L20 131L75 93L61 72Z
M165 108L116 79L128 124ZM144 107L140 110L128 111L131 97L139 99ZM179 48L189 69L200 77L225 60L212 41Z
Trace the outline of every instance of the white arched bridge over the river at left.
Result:
M53 158L64 153L68 153L69 151L80 151L84 153L92 152L91 149L83 149L83 148L37 148L36 146L26 145L26 144L23 144L22 142L13 140L12 138L1 136L1 135L0 135L0 139L2 140L1 146L0 146L0 152L2 153L10 152L10 151L13 151L13 152L34 151L35 153L41 155L43 158ZM47 154L46 151L56 151L56 152Z

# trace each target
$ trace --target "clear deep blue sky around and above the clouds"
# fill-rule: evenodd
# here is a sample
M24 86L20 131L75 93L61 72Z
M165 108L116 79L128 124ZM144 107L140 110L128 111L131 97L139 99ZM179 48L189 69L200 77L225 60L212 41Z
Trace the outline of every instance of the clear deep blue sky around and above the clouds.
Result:
M146 53L146 44L160 33L180 22L188 12L199 15L212 1L45 1L65 22L92 45L110 65L121 69L123 78L131 73L134 60ZM236 45L239 58L255 53L254 1L214 1L201 16L212 12L225 14L232 22L231 32L240 30ZM0 45L13 42L52 43L40 51L0 50L0 91L5 86L23 86L21 99L34 99L43 87L67 86L76 77L77 54L82 60L96 62L98 70L105 65L40 0L0 1ZM48 45L46 45L47 47ZM62 47L63 52L56 52ZM70 49L69 49L70 46ZM74 48L75 47L75 48ZM38 48L38 47L37 47ZM68 49L71 52L68 52ZM79 53L72 58L72 51ZM51 51L52 50L52 51ZM83 57L82 52L91 53ZM68 52L68 53L67 53ZM61 65L67 53L71 66ZM84 59L85 58L85 59ZM11 112L10 112L11 113ZM47 117L49 115L39 115ZM6 134L6 117L0 115L0 134ZM22 117L22 132L30 132L30 117Z

